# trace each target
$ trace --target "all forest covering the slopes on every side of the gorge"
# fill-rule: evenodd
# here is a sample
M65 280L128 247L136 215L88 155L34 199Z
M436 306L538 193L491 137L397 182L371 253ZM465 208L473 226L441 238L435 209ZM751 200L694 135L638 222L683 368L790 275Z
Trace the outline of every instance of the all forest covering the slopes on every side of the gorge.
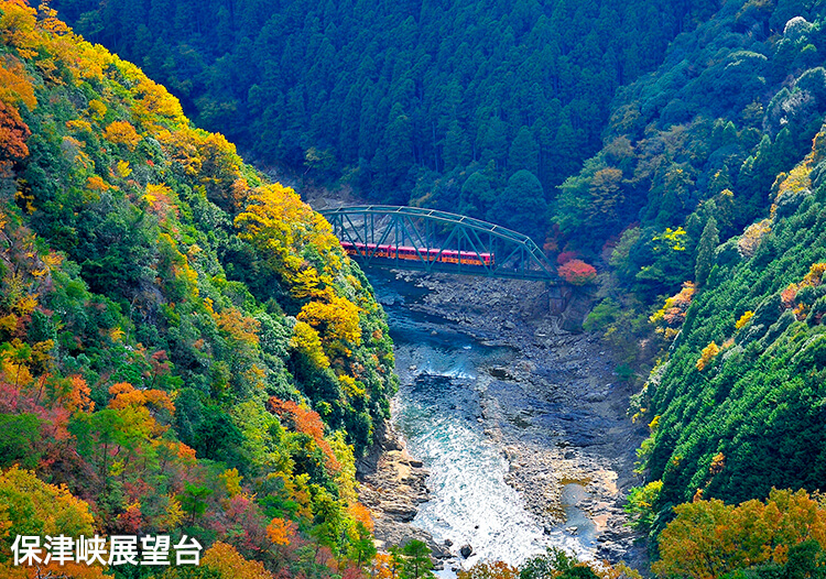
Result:
M651 571L826 577L820 2L0 0L0 41L2 577L428 575L358 502L384 314L232 142L531 234L639 386ZM203 565L12 565L17 535L95 533Z

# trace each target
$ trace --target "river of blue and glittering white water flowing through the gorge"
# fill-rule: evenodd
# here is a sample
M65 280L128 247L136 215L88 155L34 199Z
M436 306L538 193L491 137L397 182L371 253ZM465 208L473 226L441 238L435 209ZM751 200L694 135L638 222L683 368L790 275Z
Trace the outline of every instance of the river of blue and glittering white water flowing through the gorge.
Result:
M438 543L450 542L456 555L463 545L474 549L466 560L449 562L442 576L453 577L452 567L469 568L481 560L519 565L548 546L593 558L595 525L576 506L587 498L585 488L570 482L562 489L566 522L547 527L506 482L511 465L485 414L491 403L512 400L491 400L512 387L491 369L518 362L519 351L486 345L453 323L413 312L410 306L426 291L392 274L371 272L370 282L395 345L401 386L392 402L393 422L410 454L431 473L431 500L420 505L412 524ZM524 401L525 409L533 403L542 401Z

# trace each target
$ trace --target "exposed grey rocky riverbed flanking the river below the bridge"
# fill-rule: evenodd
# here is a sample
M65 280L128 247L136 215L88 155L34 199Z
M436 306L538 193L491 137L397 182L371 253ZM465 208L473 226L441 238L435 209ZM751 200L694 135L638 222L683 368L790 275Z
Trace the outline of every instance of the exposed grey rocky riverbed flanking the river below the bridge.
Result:
M508 461L507 482L545 532L576 535L587 526L597 558L644 567L644 548L633 545L622 504L628 488L638 483L634 449L646 433L626 416L632 392L617 380L616 361L599 337L572 331L587 303L574 296L562 315L554 315L542 283L399 276L420 295L407 303L411 310L438 316L482 343L515 350L478 368L476 419ZM399 365L403 383L416 379L416 369ZM434 555L449 556L444 545L409 524L430 498L426 471L392 429L384 440L383 452L360 465L361 496L377 513L377 538L387 544L421 538ZM566 523L572 506L587 521Z

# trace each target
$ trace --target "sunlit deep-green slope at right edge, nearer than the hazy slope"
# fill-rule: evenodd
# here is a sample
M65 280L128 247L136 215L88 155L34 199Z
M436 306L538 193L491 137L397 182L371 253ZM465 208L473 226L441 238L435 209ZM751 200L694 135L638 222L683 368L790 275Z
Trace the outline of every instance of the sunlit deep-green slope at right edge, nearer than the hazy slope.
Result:
M771 217L720 245L667 361L646 385L657 509L727 502L826 477L824 139L781 182Z

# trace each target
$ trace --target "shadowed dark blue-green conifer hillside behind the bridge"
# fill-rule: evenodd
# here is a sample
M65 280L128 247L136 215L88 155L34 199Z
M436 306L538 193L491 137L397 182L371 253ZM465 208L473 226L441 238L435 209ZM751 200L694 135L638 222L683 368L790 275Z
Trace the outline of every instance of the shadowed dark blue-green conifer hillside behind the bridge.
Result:
M617 87L717 10L714 0L53 6L264 164L540 241L556 185L600 148ZM520 171L530 175L511 181ZM513 195L499 195L506 187Z

